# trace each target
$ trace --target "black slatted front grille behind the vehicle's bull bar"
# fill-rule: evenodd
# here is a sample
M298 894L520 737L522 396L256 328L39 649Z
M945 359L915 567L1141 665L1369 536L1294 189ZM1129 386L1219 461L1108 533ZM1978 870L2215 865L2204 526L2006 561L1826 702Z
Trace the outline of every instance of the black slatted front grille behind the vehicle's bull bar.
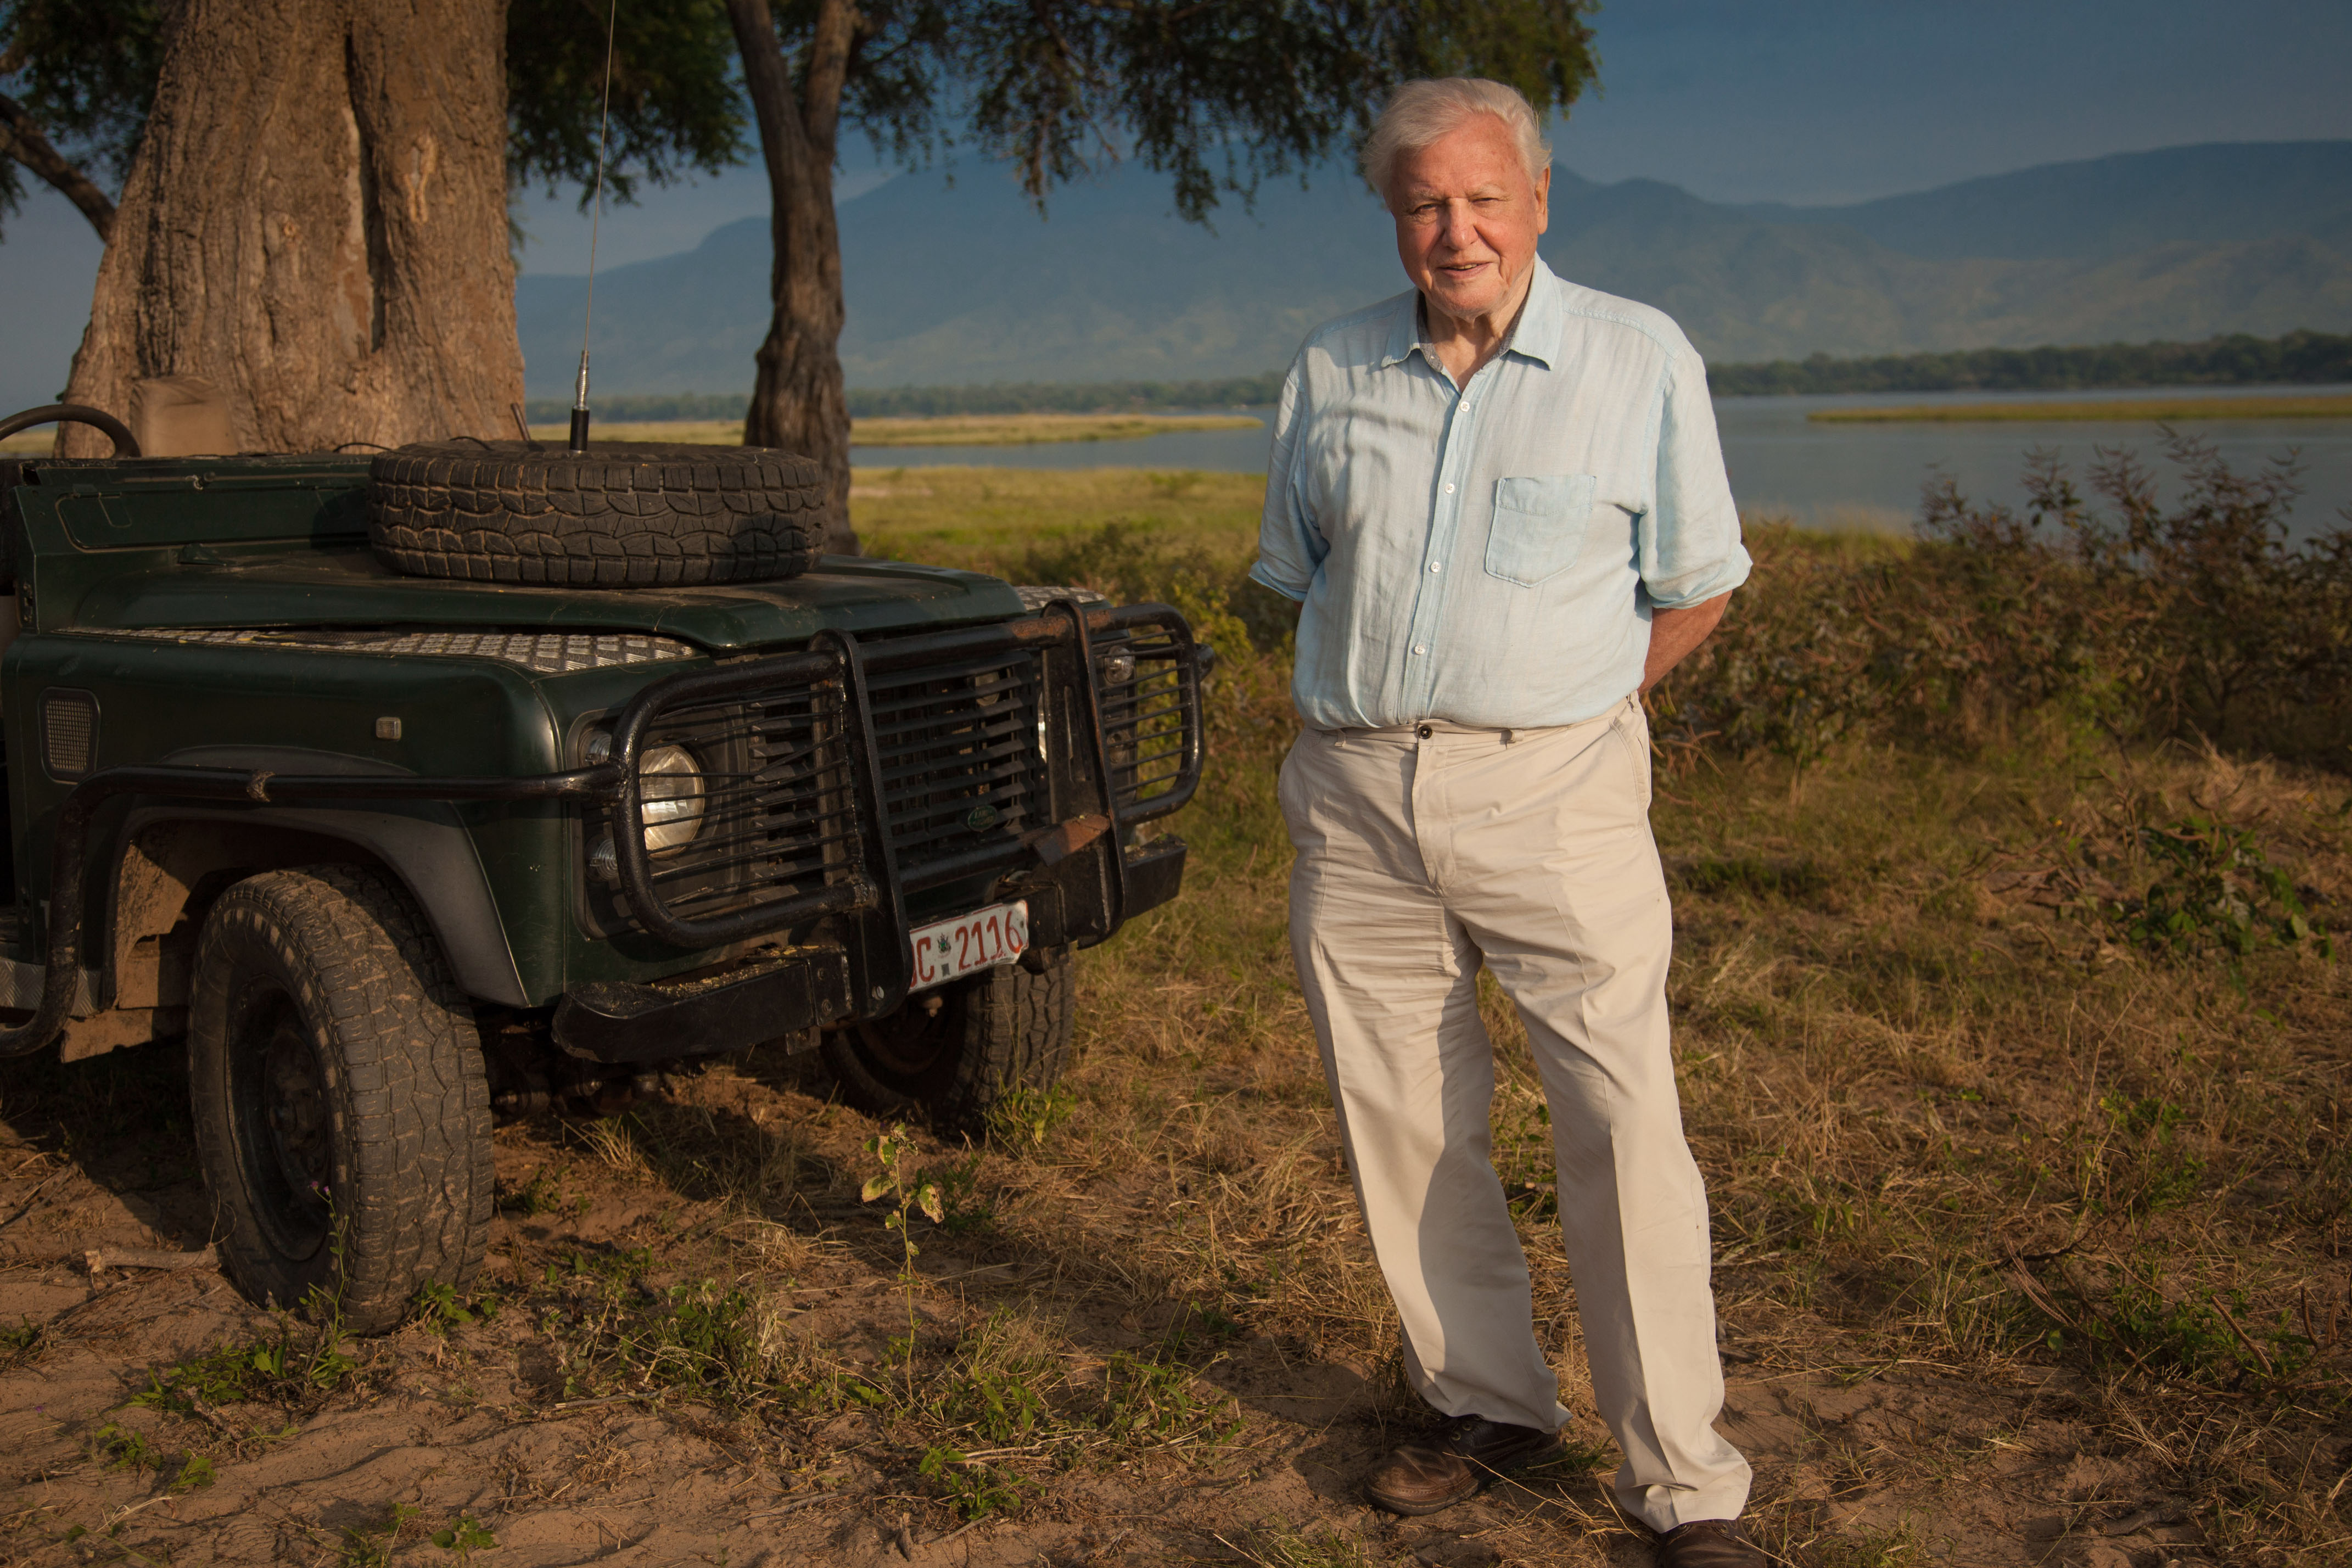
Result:
M882 882L880 867L868 865L875 839L887 842L908 893L1028 865L1023 842L1054 825L1049 719L1061 736L1056 745L1080 748L1065 759L1073 780L1094 771L1084 705L1065 710L1061 696L1077 670L1056 663L1089 644L1120 823L1174 811L1200 785L1195 649L1181 623L1162 623L1174 621L1169 611L1145 607L1127 621L1103 621L1110 625L1098 623L1084 642L1023 623L1004 632L953 630L936 644L927 637L868 644L877 651L847 654L858 661L863 715L851 705L849 672L823 651L673 677L675 696L652 698L640 757L663 745L694 752L703 778L701 830L647 856L649 884L633 893L647 898L644 922L630 922L614 898L590 891L590 924L640 924L673 943L689 940L691 929L696 940L708 933L717 945L764 931L760 912L769 905L795 905L779 924L868 907L863 891L854 903L842 893L849 882ZM868 783L861 722L873 733L880 830L861 806ZM1075 788L1080 799L1094 799L1087 783ZM609 825L597 823L597 832ZM609 839L590 849L590 867L602 867L607 891L626 882Z

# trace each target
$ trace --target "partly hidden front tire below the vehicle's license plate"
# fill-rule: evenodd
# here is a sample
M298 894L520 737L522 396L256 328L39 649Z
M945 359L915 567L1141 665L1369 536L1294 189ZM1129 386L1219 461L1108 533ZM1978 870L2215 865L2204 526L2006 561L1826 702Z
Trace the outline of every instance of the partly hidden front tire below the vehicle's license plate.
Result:
M1007 1091L1058 1084L1070 1067L1077 966L1068 947L1040 947L1030 961L1037 969L993 969L908 997L889 1018L828 1030L826 1063L847 1100L877 1117L922 1114L941 1131L981 1133Z

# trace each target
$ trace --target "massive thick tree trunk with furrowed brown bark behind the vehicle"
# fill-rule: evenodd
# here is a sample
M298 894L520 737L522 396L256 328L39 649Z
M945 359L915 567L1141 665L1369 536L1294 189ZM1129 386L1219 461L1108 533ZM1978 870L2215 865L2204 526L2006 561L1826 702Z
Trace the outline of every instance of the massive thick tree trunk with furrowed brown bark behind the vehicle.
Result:
M506 433L506 0L186 0L66 395L167 451Z

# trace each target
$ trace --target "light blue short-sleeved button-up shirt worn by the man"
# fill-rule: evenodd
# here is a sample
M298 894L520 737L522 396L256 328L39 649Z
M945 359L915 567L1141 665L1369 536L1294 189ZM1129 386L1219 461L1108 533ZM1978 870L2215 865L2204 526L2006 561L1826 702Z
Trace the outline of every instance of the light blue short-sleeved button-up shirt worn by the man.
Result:
M1456 388L1421 294L1317 327L1282 383L1249 576L1303 599L1315 729L1576 724L1642 684L1651 609L1748 581L1698 350L1536 259Z

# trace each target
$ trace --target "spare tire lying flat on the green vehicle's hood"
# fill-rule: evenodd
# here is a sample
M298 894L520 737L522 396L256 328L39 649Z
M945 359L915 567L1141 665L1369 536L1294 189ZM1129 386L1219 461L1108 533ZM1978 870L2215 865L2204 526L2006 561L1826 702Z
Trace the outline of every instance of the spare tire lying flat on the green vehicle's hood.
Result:
M407 576L670 588L800 576L826 484L767 447L416 442L367 470L367 536Z

